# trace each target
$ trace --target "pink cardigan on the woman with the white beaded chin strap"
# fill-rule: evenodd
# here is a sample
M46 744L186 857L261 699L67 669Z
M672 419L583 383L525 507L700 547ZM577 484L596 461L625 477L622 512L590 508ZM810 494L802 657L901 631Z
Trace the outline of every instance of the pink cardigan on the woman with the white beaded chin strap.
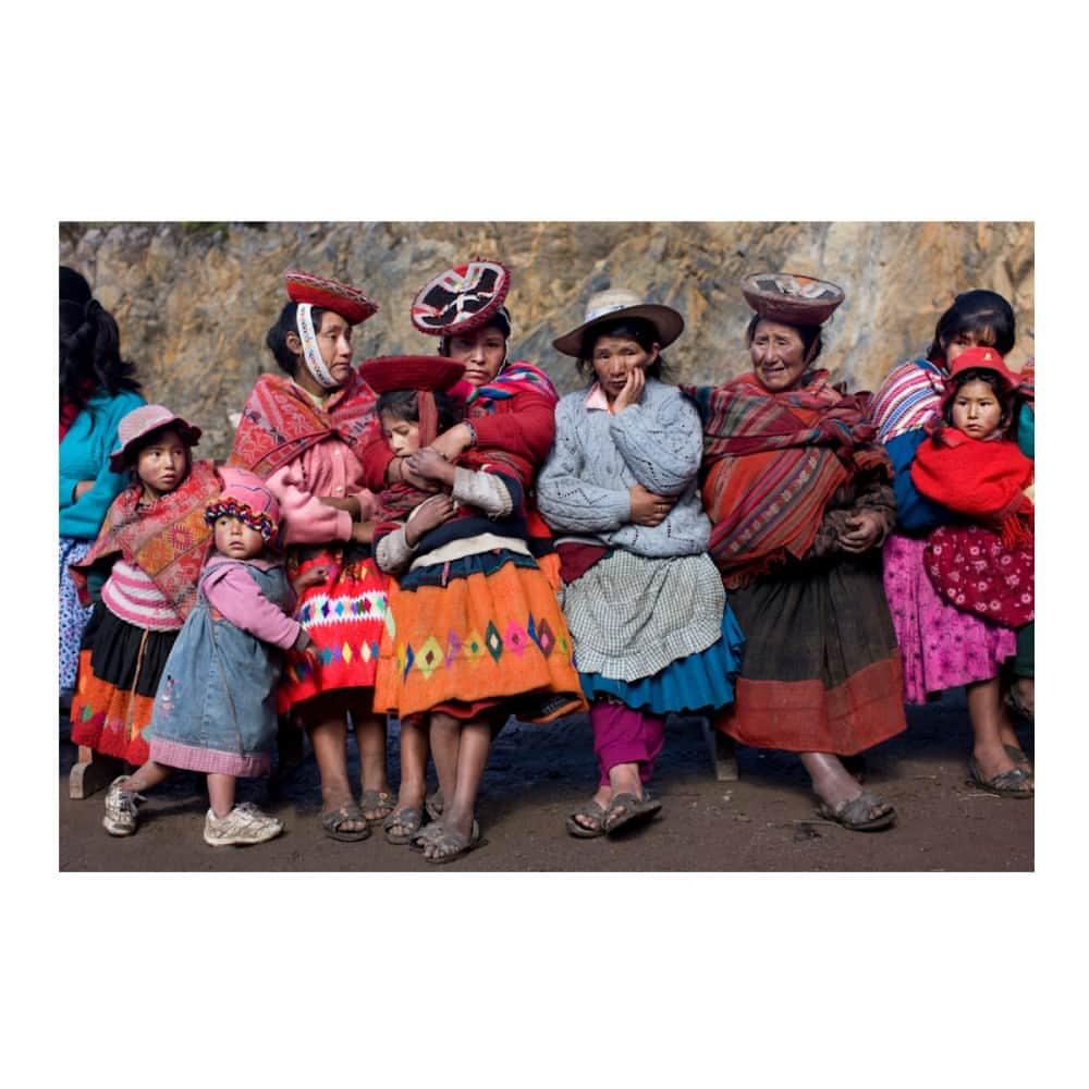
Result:
M337 438L304 450L265 482L280 503L285 544L323 544L351 539L352 515L322 503L322 495L355 497L364 522L378 510L377 497L364 484L359 458Z

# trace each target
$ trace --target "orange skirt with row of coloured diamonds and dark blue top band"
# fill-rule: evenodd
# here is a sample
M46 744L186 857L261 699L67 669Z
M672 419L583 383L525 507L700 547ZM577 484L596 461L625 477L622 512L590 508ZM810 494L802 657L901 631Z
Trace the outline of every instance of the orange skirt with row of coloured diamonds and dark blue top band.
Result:
M567 625L531 558L495 550L409 572L390 583L390 612L376 712L501 706L550 722L586 709Z

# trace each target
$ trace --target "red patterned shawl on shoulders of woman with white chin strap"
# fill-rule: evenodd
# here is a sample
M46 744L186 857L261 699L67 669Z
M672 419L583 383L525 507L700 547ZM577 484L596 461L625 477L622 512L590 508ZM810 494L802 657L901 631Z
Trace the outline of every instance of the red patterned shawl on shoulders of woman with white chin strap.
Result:
M330 436L362 460L379 437L377 400L355 371L323 409L286 376L261 375L242 411L227 464L268 477Z

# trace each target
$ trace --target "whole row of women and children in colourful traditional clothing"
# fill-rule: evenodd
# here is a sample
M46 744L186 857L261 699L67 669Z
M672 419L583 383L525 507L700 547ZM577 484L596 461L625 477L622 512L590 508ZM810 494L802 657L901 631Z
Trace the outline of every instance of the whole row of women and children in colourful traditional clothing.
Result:
M353 367L377 307L290 270L279 372L218 465L143 403L113 318L61 268L61 689L72 739L135 769L107 792L110 834L187 769L208 778L209 844L278 835L235 783L269 773L287 722L329 836L378 823L449 862L481 842L504 723L585 711L600 775L573 836L661 809L671 713L797 752L822 816L883 829L858 758L905 702L962 685L971 781L1032 796L1014 713L1032 714L1033 370L1006 367L1001 295L958 295L871 395L818 362L832 283L746 277L752 370L706 388L668 380L681 314L614 287L553 341L587 382L561 399L507 358L510 284L497 261L444 270L411 315L438 352Z

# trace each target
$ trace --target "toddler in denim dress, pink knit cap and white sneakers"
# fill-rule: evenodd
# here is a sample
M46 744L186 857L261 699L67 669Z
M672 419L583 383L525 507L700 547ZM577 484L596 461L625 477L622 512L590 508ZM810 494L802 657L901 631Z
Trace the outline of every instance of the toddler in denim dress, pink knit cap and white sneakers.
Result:
M224 488L205 510L215 551L200 576L197 603L170 653L146 733L150 759L114 781L102 823L111 835L136 831L140 792L175 768L208 775L204 837L211 846L261 843L283 822L250 804L235 805L240 775L267 775L276 742L276 687L282 650L306 650L310 637L285 611L291 589L276 539L279 504L260 478L222 470ZM308 572L296 580L323 577Z

